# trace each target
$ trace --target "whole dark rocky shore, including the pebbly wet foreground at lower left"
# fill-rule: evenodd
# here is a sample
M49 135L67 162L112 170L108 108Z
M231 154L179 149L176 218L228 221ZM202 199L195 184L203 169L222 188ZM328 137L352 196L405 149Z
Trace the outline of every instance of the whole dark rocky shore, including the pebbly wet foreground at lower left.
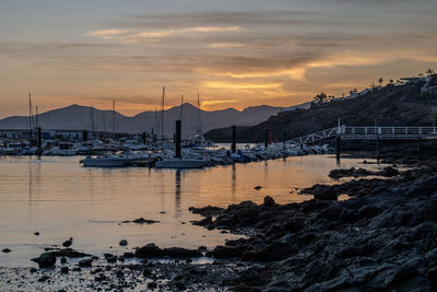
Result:
M96 257L59 248L34 259L39 269L0 268L0 287L24 291L435 290L437 164L427 160L405 171L351 168L331 176L359 179L303 189L315 199L302 203L277 205L265 197L261 205L190 208L203 215L192 224L246 235L211 250L147 244L123 255ZM338 201L340 195L351 199Z

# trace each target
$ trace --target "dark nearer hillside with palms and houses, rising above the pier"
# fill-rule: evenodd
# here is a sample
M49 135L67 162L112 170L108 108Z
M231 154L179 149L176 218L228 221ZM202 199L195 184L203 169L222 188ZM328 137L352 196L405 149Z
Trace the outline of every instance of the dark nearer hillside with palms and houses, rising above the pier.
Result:
M400 86L386 86L369 91L355 98L335 101L322 105L284 108L277 115L255 125L237 128L238 141L263 141L264 130L272 131L273 139L282 140L283 132L288 138L299 137L335 127L341 118L350 126L432 126L437 108L436 94L422 94L424 82ZM231 141L231 129L221 128L209 131L206 138L216 142Z

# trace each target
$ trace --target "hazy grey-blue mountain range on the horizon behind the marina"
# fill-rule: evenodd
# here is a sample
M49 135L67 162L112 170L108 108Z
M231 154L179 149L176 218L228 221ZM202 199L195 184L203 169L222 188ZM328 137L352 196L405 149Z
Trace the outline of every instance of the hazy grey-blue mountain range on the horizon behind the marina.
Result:
M267 120L272 115L276 115L280 110L280 107L260 105L245 108L241 112L235 108L208 112L198 110L196 106L186 103L165 110L164 131L166 136L173 136L175 120L180 118L180 115L182 115L182 133L187 138L200 128L200 124L203 131L231 125L252 126ZM43 129L92 130L92 117L94 117L96 131L113 131L113 110L92 109L92 107L76 104L39 114L38 124ZM152 128L156 132L155 112L143 112L133 117L128 117L116 112L115 121L117 132L151 132ZM27 127L27 116L13 116L0 119L0 129L26 129Z

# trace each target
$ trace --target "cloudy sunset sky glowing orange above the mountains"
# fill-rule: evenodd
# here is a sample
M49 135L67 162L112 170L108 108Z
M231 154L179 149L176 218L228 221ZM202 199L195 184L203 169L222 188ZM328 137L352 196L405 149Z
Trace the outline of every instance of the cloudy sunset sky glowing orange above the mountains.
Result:
M437 69L436 0L0 0L0 118L291 106Z

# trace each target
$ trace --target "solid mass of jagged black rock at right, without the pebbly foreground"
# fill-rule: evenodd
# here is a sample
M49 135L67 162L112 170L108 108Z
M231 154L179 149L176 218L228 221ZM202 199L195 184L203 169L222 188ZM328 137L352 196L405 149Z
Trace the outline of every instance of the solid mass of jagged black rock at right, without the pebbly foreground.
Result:
M215 258L264 262L229 280L234 290L436 289L436 166L303 192L319 199L280 206L267 197L263 205L192 209L205 217L197 224L251 234L213 250ZM354 198L331 200L341 194Z

